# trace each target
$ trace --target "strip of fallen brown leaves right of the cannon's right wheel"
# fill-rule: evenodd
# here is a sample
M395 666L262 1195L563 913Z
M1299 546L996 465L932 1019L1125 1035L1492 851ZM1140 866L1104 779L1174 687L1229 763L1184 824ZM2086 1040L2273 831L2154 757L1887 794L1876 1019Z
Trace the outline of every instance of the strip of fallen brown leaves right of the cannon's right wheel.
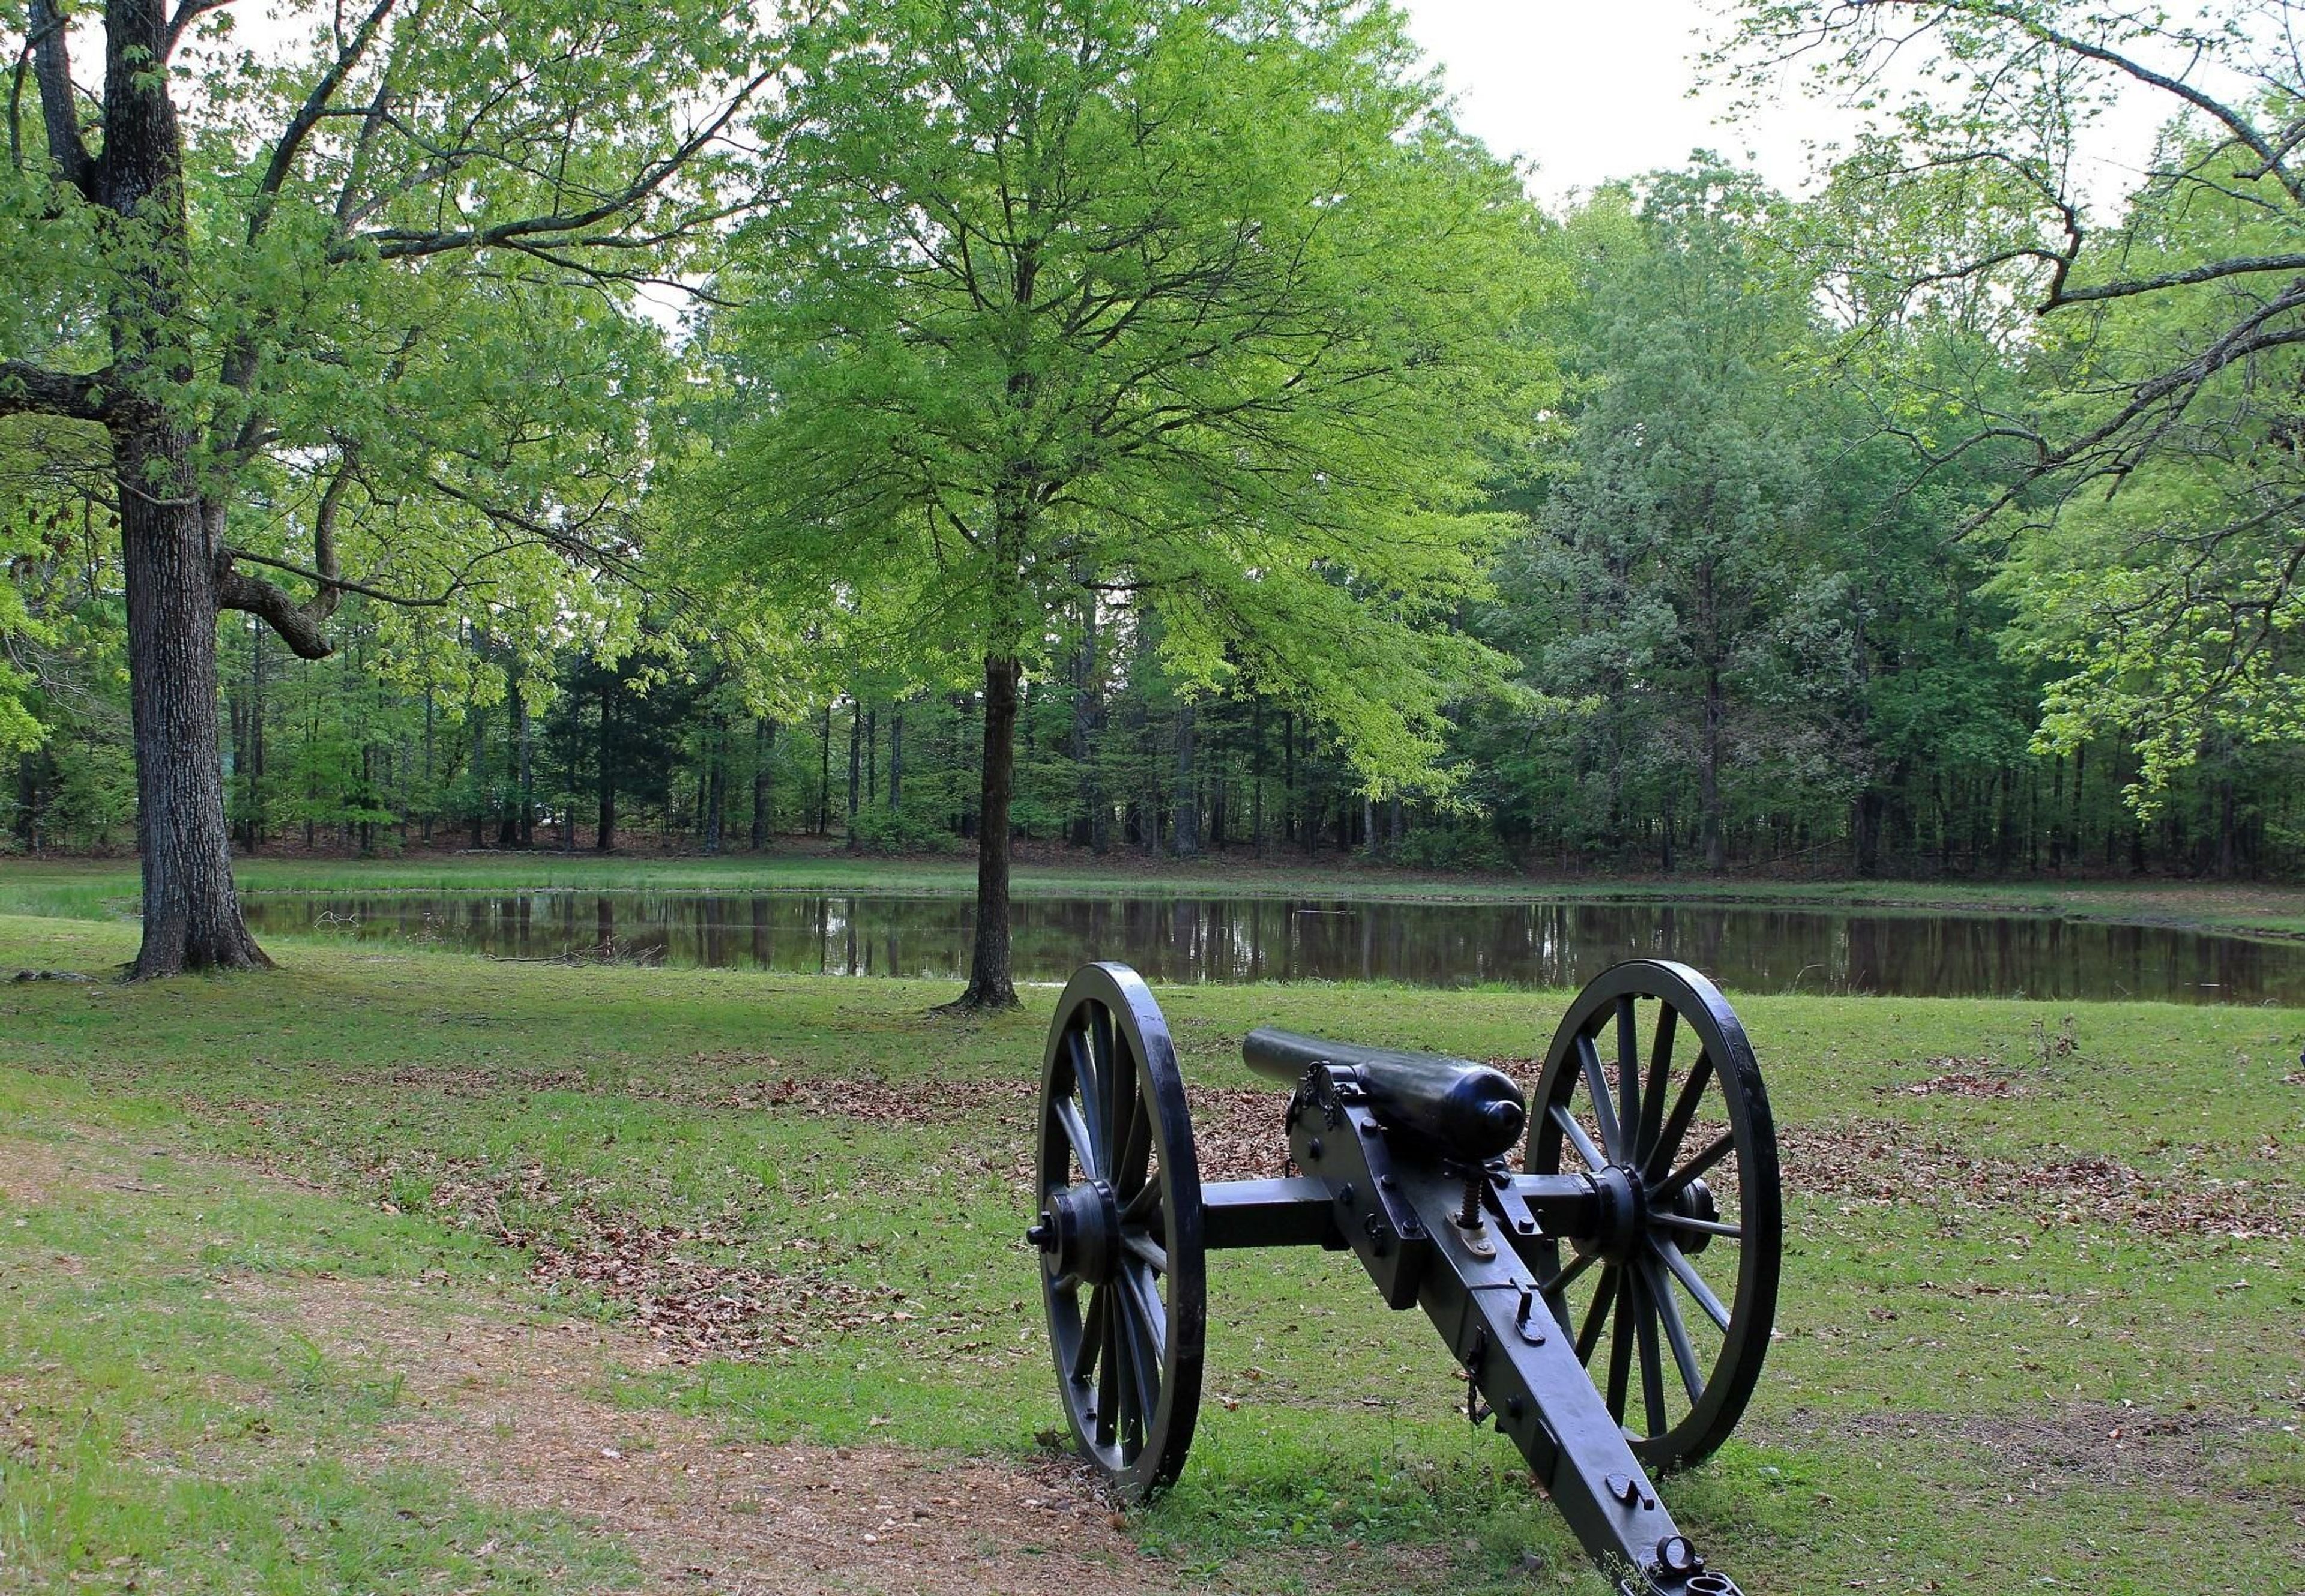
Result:
M1867 1206L2017 1209L2042 1225L2148 1236L2289 1239L2289 1192L2252 1181L2148 1176L2111 1158L1968 1153L1888 1121L1777 1132L1786 1190Z

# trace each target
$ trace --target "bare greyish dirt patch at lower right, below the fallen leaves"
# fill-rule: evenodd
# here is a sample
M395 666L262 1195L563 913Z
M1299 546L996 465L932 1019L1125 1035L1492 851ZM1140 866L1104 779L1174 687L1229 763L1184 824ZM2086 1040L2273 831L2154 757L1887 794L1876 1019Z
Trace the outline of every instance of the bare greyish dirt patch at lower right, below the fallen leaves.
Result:
M1823 1414L1793 1409L1756 1425L1759 1441L1814 1446L1842 1437L1876 1441L1952 1441L1980 1455L1994 1490L2065 1490L2072 1485L2201 1495L2217 1455L2270 1428L2261 1418L2192 1409L2148 1411L2118 1402L2072 1402L2028 1414ZM1773 1435L1775 1432L1775 1435Z

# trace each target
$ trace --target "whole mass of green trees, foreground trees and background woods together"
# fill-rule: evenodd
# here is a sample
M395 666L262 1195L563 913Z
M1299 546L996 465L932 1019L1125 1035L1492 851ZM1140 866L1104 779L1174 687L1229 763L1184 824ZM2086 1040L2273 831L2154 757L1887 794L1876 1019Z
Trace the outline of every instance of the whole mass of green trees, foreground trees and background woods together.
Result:
M1558 212L1376 0L228 12L0 12L0 837L138 973L231 849L2305 867L2284 5L1743 7L1932 67Z

